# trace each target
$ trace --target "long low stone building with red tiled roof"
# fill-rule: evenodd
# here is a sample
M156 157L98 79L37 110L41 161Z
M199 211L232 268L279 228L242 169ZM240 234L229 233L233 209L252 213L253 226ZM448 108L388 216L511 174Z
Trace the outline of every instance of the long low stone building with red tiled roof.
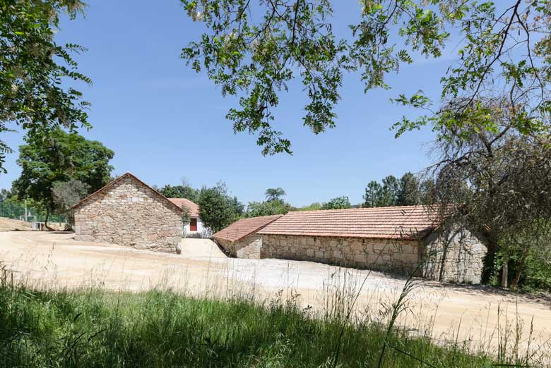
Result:
M241 234L254 252L230 253L480 283L485 247L465 228L445 230L442 219L439 209L422 206L295 211Z

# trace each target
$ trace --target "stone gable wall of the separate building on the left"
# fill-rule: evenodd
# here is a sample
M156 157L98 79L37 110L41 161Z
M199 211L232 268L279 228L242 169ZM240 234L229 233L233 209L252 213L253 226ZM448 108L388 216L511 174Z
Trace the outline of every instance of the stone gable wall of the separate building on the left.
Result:
M75 209L75 239L179 252L182 216L146 185L127 176Z

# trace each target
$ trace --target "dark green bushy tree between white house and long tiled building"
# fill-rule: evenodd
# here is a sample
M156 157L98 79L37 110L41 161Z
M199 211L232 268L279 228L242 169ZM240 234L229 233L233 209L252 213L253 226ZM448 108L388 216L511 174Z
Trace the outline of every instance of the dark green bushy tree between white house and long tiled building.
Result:
M222 230L242 215L242 205L237 197L228 195L225 183L218 183L213 188L201 188L197 204L201 221L214 232Z

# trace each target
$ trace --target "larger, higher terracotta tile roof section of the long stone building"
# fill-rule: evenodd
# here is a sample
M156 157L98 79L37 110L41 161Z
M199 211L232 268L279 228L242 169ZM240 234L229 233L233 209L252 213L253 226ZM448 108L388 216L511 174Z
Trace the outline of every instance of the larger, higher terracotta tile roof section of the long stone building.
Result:
M441 208L400 206L293 211L258 233L414 240L439 226Z

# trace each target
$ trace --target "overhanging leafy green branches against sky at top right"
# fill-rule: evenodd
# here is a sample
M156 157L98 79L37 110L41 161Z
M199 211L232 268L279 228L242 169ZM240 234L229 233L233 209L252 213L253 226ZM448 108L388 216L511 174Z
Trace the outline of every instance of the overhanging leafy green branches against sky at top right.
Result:
M427 6L427 2L431 6ZM204 70L223 95L239 96L227 114L236 132L256 133L263 154L292 152L290 140L273 127L280 94L295 87L308 102L302 124L314 134L335 125L335 106L345 72L357 72L365 92L389 88L388 73L415 59L438 59L446 46L457 51L442 76L442 101L433 113L396 123L397 135L432 125L451 137L452 126L470 125L468 110L505 92L526 114L511 130L549 130L551 14L547 1L362 0L351 35L333 34L329 0L182 0L188 15L206 32L182 51L196 72ZM254 16L253 16L254 15ZM451 30L458 30L457 39ZM499 91L499 92L498 92ZM426 109L422 91L398 94L398 104ZM459 118L446 118L449 114ZM477 129L493 131L492 122Z

